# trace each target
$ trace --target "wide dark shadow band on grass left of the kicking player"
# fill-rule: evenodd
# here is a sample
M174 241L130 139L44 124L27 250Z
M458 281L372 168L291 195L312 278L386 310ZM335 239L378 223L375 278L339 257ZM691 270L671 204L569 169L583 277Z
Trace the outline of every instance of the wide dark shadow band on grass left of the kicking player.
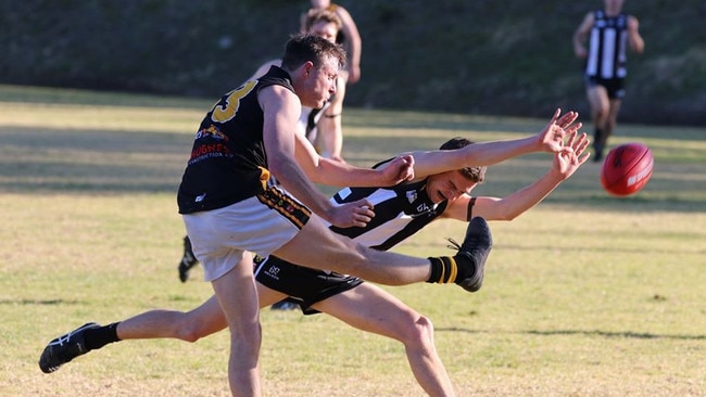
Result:
M0 130L0 192L175 193L191 137L10 127Z

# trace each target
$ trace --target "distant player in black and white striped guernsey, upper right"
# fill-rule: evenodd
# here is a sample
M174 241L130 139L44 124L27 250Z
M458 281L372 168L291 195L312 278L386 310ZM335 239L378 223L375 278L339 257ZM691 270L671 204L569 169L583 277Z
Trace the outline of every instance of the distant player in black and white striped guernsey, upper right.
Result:
M644 50L638 18L621 12L625 0L604 0L605 8L589 12L573 34L573 52L585 60L585 89L595 128L595 162L603 158L608 138L615 130L625 97L628 46ZM589 49L584 42L589 38Z

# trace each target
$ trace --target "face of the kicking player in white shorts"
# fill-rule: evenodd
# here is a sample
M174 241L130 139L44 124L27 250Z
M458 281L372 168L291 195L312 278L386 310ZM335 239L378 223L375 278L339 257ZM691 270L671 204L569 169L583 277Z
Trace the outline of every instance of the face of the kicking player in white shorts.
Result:
M302 105L319 108L336 93L338 78L338 60L333 56L326 57L320 65L305 69L300 87L295 89Z

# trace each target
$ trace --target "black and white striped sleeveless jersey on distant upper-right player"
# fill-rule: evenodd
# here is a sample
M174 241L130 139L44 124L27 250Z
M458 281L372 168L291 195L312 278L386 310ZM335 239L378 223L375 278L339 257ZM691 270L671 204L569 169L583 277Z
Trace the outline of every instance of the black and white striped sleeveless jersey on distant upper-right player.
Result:
M623 78L628 74L626 46L628 15L608 17L603 10L594 12L585 74L603 79Z

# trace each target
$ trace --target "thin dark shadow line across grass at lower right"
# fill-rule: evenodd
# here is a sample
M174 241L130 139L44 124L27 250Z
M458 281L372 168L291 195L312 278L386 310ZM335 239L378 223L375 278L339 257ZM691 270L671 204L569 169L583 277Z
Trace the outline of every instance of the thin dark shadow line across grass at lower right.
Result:
M437 332L463 332L470 334L522 334L522 335L538 335L538 336L562 336L562 335L581 335L581 336L601 336L606 338L634 338L634 340L675 340L675 341L706 341L706 335L667 335L667 334L653 334L650 332L634 332L634 331L601 331L601 330L553 330L553 331L492 331L492 330L469 330L463 328L438 328Z

